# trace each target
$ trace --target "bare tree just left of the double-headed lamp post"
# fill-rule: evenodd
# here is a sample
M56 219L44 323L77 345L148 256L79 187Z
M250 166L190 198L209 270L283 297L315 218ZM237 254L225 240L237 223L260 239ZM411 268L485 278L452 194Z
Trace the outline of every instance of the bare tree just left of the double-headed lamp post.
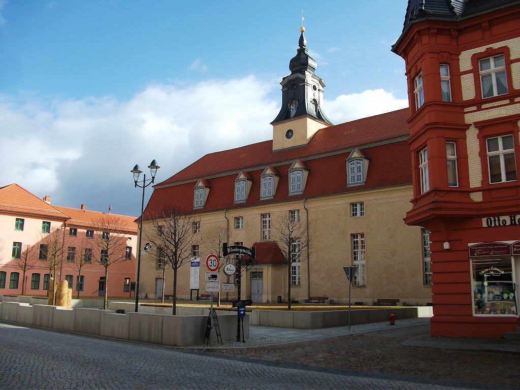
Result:
M103 309L107 309L108 295L108 269L113 264L127 261L125 225L120 216L115 214L103 214L93 220L94 239L93 259L105 268L105 296L103 297Z

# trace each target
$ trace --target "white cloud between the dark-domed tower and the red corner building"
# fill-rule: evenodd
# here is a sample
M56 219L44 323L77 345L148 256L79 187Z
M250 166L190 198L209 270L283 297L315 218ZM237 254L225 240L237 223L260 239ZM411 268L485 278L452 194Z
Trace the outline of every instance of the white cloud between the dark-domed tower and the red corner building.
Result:
M323 110L334 124L353 121L408 107L407 99L397 99L384 89L368 89L360 94L340 95L325 100Z

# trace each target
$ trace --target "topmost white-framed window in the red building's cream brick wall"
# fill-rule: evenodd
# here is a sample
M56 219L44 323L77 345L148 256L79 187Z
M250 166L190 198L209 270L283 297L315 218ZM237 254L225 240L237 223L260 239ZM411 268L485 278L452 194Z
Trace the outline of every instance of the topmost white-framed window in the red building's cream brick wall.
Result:
M479 60L478 70L483 98L508 93L508 81L505 75L503 54Z

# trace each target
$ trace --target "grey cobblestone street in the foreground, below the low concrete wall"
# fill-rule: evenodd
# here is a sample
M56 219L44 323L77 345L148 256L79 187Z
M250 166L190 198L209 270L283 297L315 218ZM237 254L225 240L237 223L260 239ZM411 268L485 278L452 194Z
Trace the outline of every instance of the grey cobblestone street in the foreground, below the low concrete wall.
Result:
M314 360L322 356L323 345L317 344L334 340L308 341ZM300 351L292 344L280 347L292 351L290 359L272 362L236 356L217 358L201 351L187 352L0 323L0 389L473 388L412 376L302 366L293 362ZM264 350L259 357L265 358L265 354L269 353Z

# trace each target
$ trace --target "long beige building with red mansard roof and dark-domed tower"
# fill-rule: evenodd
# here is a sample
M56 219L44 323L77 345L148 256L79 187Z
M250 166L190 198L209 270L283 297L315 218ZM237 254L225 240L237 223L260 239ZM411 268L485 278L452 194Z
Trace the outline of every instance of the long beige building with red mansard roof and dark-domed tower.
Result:
M287 302L320 296L346 303L343 267L357 266L353 303L430 303L429 241L421 228L402 220L412 197L407 110L333 126L322 110L325 85L315 74L303 30L298 45L291 73L281 81L272 140L207 154L155 185L144 213L145 236L165 207L197 215L199 243L192 255L201 259L200 293L204 259L215 252L210 238L221 229L230 244L256 248L256 264L242 275L241 298ZM293 242L291 264L275 234L287 217L305 226ZM303 251L299 243L307 237L310 249ZM160 293L158 257L151 252L141 262L140 291L148 296ZM171 269L165 278L165 293L172 294ZM220 280L235 282L224 274ZM187 299L190 292L187 264L179 269L177 297ZM225 294L228 300L236 296L236 290Z

